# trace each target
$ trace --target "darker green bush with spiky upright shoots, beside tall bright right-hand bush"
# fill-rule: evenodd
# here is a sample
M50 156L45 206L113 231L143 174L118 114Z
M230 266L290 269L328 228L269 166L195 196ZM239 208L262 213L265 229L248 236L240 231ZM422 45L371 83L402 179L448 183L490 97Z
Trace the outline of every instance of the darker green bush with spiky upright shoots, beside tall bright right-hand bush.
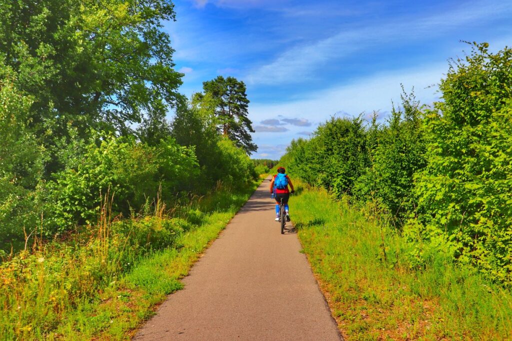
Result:
M422 112L414 93L403 92L402 109L393 108L386 125L368 130L371 167L356 182L355 199L370 201L398 226L414 212L413 175L425 166Z

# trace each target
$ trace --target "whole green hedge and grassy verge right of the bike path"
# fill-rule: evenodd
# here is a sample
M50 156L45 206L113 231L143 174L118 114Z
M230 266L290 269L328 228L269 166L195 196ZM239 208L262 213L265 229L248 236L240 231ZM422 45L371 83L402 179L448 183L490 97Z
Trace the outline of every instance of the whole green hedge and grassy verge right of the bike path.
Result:
M512 337L512 50L471 45L442 101L332 118L280 161L312 186L294 221L350 337Z

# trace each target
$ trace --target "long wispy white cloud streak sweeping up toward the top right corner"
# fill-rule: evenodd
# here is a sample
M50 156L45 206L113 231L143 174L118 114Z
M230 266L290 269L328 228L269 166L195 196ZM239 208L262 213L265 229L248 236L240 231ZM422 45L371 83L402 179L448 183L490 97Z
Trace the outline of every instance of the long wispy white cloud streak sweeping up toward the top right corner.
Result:
M311 79L325 63L373 46L400 41L436 37L468 23L482 23L497 17L510 17L510 2L475 2L463 4L453 12L423 18L393 18L389 23L376 22L353 30L344 30L314 43L294 46L270 63L251 71L247 79L253 84L280 84L297 79Z

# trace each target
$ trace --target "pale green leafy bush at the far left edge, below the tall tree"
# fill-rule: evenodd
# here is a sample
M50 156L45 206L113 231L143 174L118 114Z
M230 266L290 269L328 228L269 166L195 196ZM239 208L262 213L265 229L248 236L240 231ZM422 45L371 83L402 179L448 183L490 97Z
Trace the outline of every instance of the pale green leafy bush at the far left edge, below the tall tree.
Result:
M16 88L9 68L0 76L0 244L4 244L23 239L24 228L30 233L40 219L36 187L46 152L27 126L32 99Z

